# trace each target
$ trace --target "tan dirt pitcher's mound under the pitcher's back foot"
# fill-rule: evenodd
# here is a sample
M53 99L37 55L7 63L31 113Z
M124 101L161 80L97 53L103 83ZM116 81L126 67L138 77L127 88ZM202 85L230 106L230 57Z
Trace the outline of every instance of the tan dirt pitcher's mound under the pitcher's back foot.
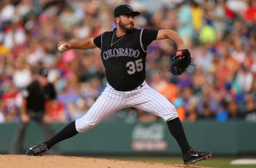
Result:
M0 155L0 167L14 167L14 168L176 168L176 167L198 167L185 166L170 163L153 163L153 162L138 162L138 161L121 161L115 159L105 158L91 158L91 157L76 157L76 156L26 156L26 155ZM205 167L204 167L205 168Z

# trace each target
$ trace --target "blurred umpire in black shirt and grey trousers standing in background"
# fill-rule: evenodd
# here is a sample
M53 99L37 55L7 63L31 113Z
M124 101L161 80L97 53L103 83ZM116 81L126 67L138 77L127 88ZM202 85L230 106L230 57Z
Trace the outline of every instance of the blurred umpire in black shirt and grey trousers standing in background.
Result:
M51 106L51 101L56 98L56 91L52 83L47 81L48 71L40 69L36 74L36 80L31 82L22 93L22 104L20 123L18 130L13 139L13 144L10 149L10 154L22 154L23 139L27 125L31 121L39 124L43 130L45 138L50 138L54 135L55 131L51 125L51 119L48 115L48 109ZM49 101L45 108L45 102ZM58 148L54 148L55 154L58 154Z

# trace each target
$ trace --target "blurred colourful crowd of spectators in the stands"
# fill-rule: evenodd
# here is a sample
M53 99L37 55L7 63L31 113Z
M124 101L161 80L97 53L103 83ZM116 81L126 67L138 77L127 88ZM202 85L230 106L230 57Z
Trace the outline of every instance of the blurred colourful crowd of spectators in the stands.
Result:
M130 4L141 15L136 28L176 30L193 63L168 69L175 44L148 47L147 82L172 102L182 121L256 122L256 0L3 0L0 2L0 123L18 122L21 91L36 68L50 70L58 97L52 122L81 117L106 86L100 50L59 52L76 41L115 28L113 11ZM159 117L125 108L105 121L152 122Z

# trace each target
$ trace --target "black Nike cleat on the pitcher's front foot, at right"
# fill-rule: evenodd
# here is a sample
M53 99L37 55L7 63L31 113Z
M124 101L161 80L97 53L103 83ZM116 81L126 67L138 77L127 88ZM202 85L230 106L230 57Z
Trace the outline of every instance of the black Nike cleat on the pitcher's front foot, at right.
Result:
M183 155L183 161L184 164L188 165L188 164L193 164L197 161L201 161L203 159L209 158L212 156L211 152L205 152L205 151L199 151L196 150L196 148L194 147L190 147L188 152Z

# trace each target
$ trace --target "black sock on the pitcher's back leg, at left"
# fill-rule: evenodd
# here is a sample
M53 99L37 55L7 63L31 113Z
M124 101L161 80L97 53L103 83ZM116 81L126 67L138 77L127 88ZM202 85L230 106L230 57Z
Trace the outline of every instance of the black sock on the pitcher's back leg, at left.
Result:
M50 149L53 145L57 144L59 141L71 138L77 135L75 121L69 123L65 128L60 130L55 136L51 139L44 142L46 144L47 149Z

